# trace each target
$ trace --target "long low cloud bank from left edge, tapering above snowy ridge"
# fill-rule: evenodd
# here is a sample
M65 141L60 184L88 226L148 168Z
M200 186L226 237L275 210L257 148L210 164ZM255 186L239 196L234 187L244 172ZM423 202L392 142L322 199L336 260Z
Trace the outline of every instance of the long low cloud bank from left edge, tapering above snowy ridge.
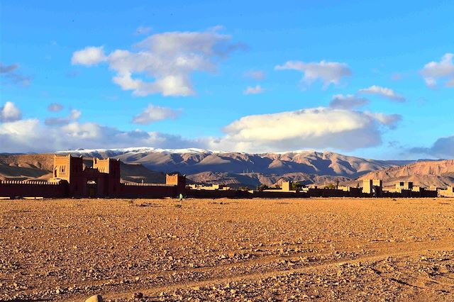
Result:
M131 146L206 147L203 140L189 140L179 135L153 131L123 131L97 123L74 121L50 127L38 119L26 119L0 124L0 152L53 152Z

